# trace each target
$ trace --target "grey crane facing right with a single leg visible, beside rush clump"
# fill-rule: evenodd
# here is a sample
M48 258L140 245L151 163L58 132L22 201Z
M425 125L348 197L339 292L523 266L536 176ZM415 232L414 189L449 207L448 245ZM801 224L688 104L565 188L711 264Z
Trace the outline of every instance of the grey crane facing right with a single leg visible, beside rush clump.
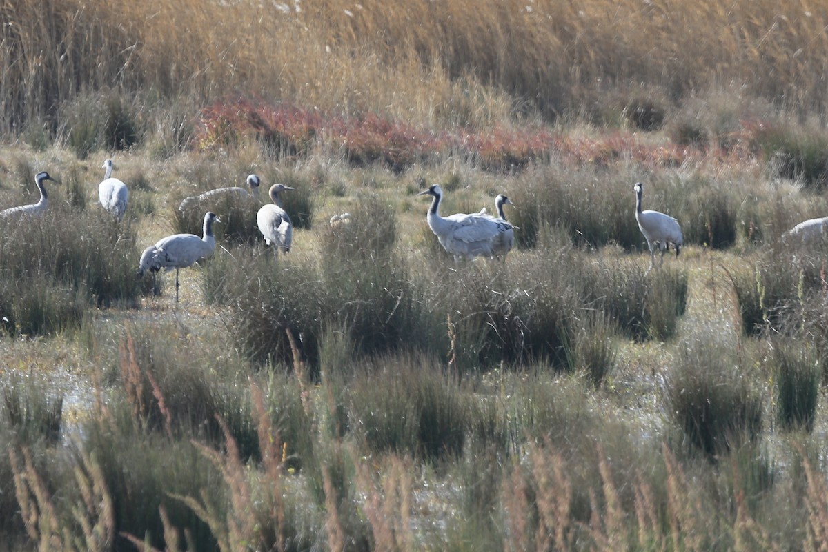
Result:
M176 303L178 303L178 270L192 266L195 262L209 258L215 251L215 237L213 223L220 223L221 219L213 212L205 214L204 236L199 238L195 234L173 234L161 238L155 245L147 247L138 263L138 276L146 271L154 274L162 268L165 271L176 269Z

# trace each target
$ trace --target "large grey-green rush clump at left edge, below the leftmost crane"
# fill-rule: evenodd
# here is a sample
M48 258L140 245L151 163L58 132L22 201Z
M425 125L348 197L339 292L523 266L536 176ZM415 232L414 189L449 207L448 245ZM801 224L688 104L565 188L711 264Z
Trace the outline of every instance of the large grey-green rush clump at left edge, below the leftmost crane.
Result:
M0 310L5 329L43 334L77 325L85 305L135 305L144 283L135 228L99 209L48 209L0 220Z

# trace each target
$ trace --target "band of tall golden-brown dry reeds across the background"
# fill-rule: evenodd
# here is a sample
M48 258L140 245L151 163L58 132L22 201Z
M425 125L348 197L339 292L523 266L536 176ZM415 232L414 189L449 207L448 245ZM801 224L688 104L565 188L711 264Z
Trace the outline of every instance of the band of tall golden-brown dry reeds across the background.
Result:
M828 6L804 0L22 0L0 19L4 130L57 132L61 104L106 89L473 126L593 110L610 87L672 100L736 83L819 113L828 94Z

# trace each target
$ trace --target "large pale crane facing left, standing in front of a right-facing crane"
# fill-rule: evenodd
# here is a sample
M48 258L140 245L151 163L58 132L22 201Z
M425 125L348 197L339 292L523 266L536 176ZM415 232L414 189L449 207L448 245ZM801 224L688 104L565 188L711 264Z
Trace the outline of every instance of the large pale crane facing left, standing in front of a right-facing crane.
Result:
M426 215L428 227L445 251L455 257L455 262L464 257L469 260L478 256L493 257L494 242L497 238L517 228L501 218L483 214L482 211L474 214L452 214L443 218L440 216L440 200L443 198L440 185L431 185L419 195L426 194L434 198Z

